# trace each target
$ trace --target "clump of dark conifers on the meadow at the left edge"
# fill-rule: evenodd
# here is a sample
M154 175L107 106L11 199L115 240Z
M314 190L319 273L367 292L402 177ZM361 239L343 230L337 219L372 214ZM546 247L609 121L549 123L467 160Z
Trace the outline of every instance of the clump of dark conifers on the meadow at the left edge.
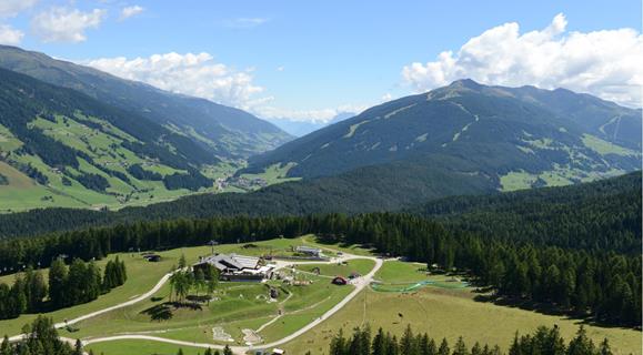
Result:
M0 320L87 303L122 285L127 277L125 264L118 256L107 263L102 276L93 261L74 258L67 266L62 257L56 258L47 283L42 273L30 266L16 276L13 285L0 283Z

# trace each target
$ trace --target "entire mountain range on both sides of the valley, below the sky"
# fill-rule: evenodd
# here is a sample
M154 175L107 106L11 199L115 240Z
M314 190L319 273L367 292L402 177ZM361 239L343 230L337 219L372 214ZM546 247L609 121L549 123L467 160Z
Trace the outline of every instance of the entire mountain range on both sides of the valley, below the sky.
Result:
M293 140L244 111L14 47L0 45L0 79L6 212L147 205L254 184L241 190L263 189L154 209L358 213L641 169L641 109L564 89L459 80Z

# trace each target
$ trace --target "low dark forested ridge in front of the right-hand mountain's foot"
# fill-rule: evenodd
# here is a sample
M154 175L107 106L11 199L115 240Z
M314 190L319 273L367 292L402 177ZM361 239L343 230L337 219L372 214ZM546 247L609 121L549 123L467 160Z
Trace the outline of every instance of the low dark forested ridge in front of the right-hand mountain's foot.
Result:
M446 176L422 162L395 162L338 176L277 184L252 193L197 194L145 207L111 212L47 209L0 214L0 237L141 220L395 211L429 199L483 192L493 192L484 179L466 174Z

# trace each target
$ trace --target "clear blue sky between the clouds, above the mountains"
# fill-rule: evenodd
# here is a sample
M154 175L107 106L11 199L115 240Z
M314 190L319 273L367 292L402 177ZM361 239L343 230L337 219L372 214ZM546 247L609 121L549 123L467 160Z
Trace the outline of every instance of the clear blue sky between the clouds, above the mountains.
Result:
M139 7L141 11L122 19L121 11L127 7ZM101 12L94 24L80 30L82 40L66 39L62 34L47 38L43 32L48 28L39 30L37 21L46 21L43 13L54 9L63 10L53 18L76 10L79 14ZM329 110L340 110L338 108L344 105L346 110L359 110L381 102L384 95L395 98L431 89L441 81L418 77L426 73L405 78L403 69L413 62L436 61L443 51L456 53L470 39L508 22L516 22L521 33L541 31L556 14L563 13L566 27L559 37L630 28L635 30L635 42L631 45L639 48L641 39L641 1L41 0L23 9L6 9L6 12L0 18L0 26L22 33L20 41L13 43L83 63L117 57L133 60L170 52L181 55L209 53L208 63L225 65L225 73L217 74L221 79L241 73L244 79L240 79L240 85L250 82L252 88L259 89L250 90L251 93L244 93L241 99L231 99L233 94L221 95L217 90L201 95L258 114L288 115L292 112L293 116L301 114L309 119L318 111L326 110L329 115L332 112ZM78 32L74 28L69 30ZM101 69L111 68L106 65ZM422 68L415 69L422 71ZM110 71L123 74L123 70ZM475 72L471 68L459 72L465 75L468 70ZM445 78L452 75L454 73ZM153 80L141 73L132 73L130 78ZM481 74L480 78L486 77ZM157 78L157 82L159 80ZM533 84L542 84L539 80L534 79ZM512 83L522 82L506 82ZM199 83L184 84L185 88L190 85ZM583 91L582 85L570 85ZM177 87L163 89L181 90ZM185 90L187 93L197 92L197 89ZM264 110L267 106L273 110ZM308 111L312 112L307 115Z

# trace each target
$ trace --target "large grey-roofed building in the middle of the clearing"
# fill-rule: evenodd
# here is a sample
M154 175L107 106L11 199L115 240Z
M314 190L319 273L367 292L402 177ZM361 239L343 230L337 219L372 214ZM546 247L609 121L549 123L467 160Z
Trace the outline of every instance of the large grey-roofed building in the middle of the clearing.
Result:
M224 281L262 281L272 277L274 265L264 265L263 261L254 256L238 254L214 254L202 257L192 268L204 267L210 264L219 270Z

